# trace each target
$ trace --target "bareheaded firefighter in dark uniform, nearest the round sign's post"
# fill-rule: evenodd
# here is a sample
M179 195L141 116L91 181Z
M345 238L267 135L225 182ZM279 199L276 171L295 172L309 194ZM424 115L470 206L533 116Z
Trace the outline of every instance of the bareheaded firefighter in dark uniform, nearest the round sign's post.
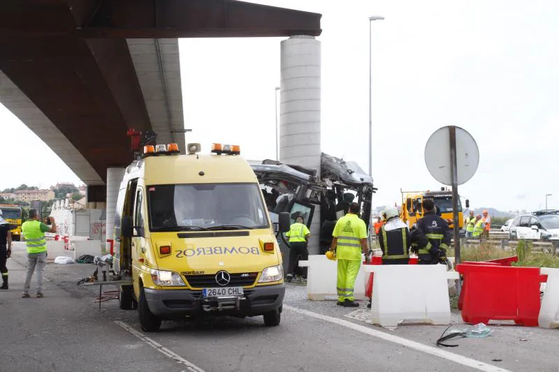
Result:
M437 216L433 200L423 199L422 205L425 214L411 234L412 246L420 265L435 265L447 257L451 232L447 221Z

